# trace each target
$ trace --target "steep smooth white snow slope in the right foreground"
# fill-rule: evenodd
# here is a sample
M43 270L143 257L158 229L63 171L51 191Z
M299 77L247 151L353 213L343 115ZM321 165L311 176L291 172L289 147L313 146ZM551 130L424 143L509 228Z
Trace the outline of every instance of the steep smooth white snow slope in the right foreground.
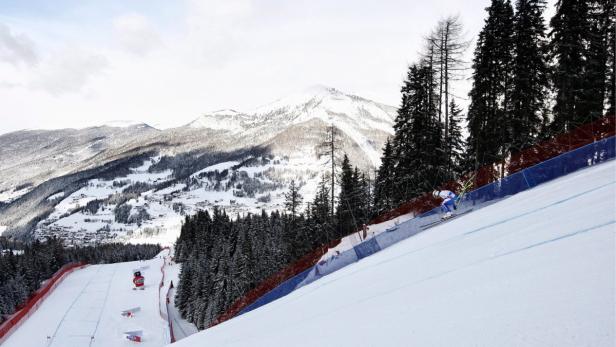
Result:
M612 345L615 170L436 226L173 346Z

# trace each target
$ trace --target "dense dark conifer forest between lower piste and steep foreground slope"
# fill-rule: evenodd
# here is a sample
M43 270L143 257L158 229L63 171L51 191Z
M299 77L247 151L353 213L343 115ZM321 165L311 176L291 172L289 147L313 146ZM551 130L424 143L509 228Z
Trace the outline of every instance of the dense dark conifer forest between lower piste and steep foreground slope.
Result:
M372 214L369 182L344 158L336 212L323 177L312 202L302 208L299 187L291 182L283 213L231 219L217 208L187 216L175 245L182 262L176 305L199 329L268 276L310 251L339 239Z

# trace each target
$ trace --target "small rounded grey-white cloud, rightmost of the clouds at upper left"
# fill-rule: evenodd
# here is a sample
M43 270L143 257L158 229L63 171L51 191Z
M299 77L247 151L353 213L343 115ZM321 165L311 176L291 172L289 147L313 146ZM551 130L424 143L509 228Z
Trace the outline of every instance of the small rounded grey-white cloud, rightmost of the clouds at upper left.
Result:
M116 17L113 28L120 46L136 55L145 55L162 44L150 21L139 14Z

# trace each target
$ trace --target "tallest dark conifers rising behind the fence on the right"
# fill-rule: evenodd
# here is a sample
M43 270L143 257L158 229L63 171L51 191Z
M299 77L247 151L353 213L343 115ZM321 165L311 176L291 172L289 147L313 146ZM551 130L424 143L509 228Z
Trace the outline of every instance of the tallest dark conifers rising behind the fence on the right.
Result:
M438 23L401 89L395 134L375 182L376 211L493 163L504 164L492 165L487 180L504 177L530 160L511 161L513 154L614 114L614 2L562 0L556 6L548 29L543 0L491 1L465 117L450 80L465 69L468 43L457 17Z

